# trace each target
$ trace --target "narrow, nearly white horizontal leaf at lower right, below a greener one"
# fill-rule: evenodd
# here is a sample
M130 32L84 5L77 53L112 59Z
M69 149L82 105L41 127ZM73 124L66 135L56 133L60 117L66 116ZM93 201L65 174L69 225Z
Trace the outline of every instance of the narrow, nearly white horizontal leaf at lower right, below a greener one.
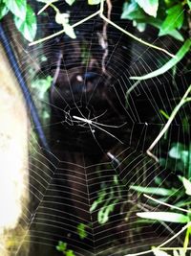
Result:
M156 220L156 221L167 221L176 223L187 223L189 222L189 217L183 214L171 213L171 212L145 212L137 213L138 217Z

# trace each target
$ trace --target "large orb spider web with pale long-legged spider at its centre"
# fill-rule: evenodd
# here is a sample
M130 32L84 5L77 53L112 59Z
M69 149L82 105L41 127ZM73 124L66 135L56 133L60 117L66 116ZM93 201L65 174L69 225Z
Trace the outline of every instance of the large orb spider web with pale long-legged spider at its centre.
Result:
M126 28L125 22L120 20L117 4L113 10L113 21ZM79 4L77 12L73 12L72 22L90 13L84 10L83 4ZM52 21L53 16L49 19ZM39 26L43 31L47 24ZM174 175L148 157L145 151L166 123L160 109L171 113L188 86L181 74L183 67L177 68L180 84L174 81L172 70L149 81L131 81L131 76L159 68L168 57L130 40L109 26L109 53L105 60L109 76L101 72L99 65L93 71L96 79L89 92L88 78L84 78L84 74L90 71L91 55L99 64L104 55L97 33L102 33L102 22L98 17L77 28L76 40L64 37L67 56L62 58L59 72L63 73L65 82L52 88L58 103L41 100L37 96L34 98L36 105L40 102L52 109L50 123L43 126L49 134L51 157L46 158L40 146L31 145L31 204L22 220L27 222L27 231L14 255L21 255L22 247L29 242L31 256L61 255L55 249L58 241L73 248L74 255L125 255L159 245L180 229L178 225L157 221L145 221L138 229L136 213L151 209L147 200L130 186L162 187L165 180ZM173 49L174 53L179 49L172 38L164 41L152 30L146 31L144 36L150 38L151 43ZM76 58L80 50L74 49L78 49L78 43L84 38L88 38L88 55L82 63ZM29 70L29 58L32 65L45 55L49 61L40 75L44 78L47 74L54 76L61 47L59 43L53 41L51 47L50 42L44 43L43 52L38 45L24 49L26 62L21 68ZM32 82L30 75L26 74L26 80ZM81 84L73 83L72 76L75 79L79 76ZM32 129L35 131L35 127ZM171 149L172 141L185 143L188 137L178 114L168 130L166 152ZM154 151L159 158L163 157L162 147L162 142L159 142ZM162 176L158 185L156 176ZM101 193L104 195L101 202L93 207ZM109 215L105 213L108 205L113 208ZM158 211L159 205L152 209ZM108 217L108 221L104 217ZM84 239L77 231L80 223L81 232L85 228L87 235Z

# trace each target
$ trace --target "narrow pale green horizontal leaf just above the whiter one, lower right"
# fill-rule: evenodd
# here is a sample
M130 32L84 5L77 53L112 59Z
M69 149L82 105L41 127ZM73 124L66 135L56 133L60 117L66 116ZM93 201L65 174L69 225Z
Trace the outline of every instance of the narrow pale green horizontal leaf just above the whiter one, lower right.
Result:
M141 187L141 186L130 186L130 189L136 190L144 194L153 194L162 197L175 196L175 190L173 189L163 189L155 187Z

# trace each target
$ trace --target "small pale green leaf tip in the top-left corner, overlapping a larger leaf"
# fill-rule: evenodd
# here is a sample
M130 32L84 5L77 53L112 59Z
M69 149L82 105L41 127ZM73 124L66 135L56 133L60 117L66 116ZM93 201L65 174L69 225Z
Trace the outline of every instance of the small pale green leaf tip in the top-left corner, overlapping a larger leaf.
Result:
M27 0L6 0L7 8L17 17L25 20L27 13Z

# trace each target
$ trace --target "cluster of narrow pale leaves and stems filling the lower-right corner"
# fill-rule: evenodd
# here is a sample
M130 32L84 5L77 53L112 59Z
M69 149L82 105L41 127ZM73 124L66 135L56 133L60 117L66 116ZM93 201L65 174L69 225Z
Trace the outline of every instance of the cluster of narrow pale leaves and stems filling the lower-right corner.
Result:
M157 176L155 178L156 187L142 187L142 186L131 186L130 189L135 190L138 194L150 194L155 196L152 198L150 196L145 196L149 200L146 202L149 207L153 208L154 211L148 212L139 212L137 216L139 218L153 220L153 221L167 221L167 222L176 222L176 223L184 223L186 224L178 233L182 233L186 230L184 243L183 243L183 254L180 250L180 253L176 252L175 249L172 248L174 255L184 255L187 250L187 247L190 243L190 235L191 235L191 175L190 175L190 164L189 158L191 157L191 151L189 151L190 146L186 146L178 143L173 143L170 150L168 151L168 157L160 159L160 164L163 167L167 167L169 170L174 171L177 179L173 182L172 180L162 179ZM178 171L179 170L179 171ZM185 177L186 176L186 177ZM161 187L159 187L161 184ZM176 188L172 187L172 185L176 186ZM159 197L159 199L156 199ZM155 205L156 203L160 205L164 205L170 208L170 211L156 211ZM182 213L183 212L183 213ZM176 238L177 234L172 237ZM170 241L169 240L169 241ZM166 242L167 244L167 242ZM159 245L160 246L160 245ZM152 249L154 255L156 256L167 256L164 250L160 250L159 248Z

